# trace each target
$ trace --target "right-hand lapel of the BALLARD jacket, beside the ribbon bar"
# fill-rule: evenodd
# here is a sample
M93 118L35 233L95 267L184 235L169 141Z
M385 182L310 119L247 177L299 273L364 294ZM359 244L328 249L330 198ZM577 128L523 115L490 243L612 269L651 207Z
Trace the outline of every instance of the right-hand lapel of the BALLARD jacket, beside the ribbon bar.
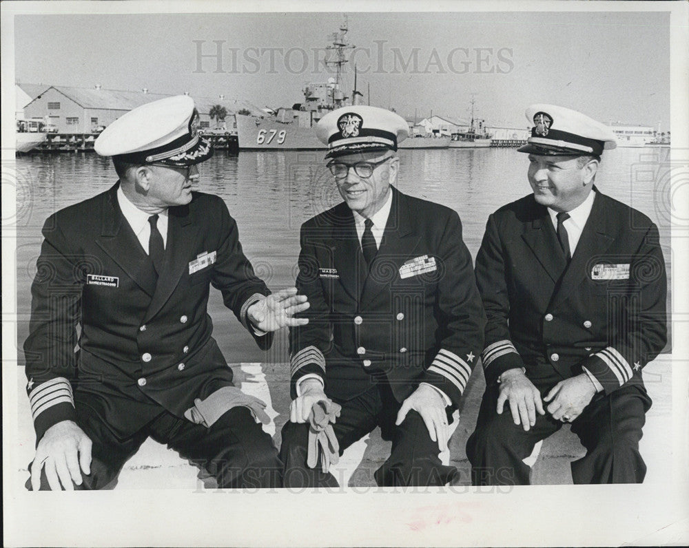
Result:
M189 218L189 207L171 207L167 210L167 247L162 273L153 295L144 322L148 322L163 308L179 283L185 269L189 268L189 257L196 247L198 227Z

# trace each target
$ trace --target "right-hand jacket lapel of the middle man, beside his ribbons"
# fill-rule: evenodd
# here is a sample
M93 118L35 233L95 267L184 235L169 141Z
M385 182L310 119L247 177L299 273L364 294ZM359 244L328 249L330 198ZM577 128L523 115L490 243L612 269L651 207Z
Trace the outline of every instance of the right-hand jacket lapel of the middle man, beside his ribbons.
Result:
M389 290L390 284L398 280L400 266L413 255L421 239L413 231L412 212L406 197L394 187L391 187L391 191L390 215L378 254L366 278L361 302L370 302L381 291Z

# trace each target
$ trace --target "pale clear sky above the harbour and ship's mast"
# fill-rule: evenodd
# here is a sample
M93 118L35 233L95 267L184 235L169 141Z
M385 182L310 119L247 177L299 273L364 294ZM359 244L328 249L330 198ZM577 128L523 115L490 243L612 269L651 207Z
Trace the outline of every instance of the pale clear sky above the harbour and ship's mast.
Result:
M318 60L344 15L22 15L15 79L291 106L306 82L333 76ZM528 105L554 103L604 123L670 127L668 14L350 12L347 20L356 50L345 87L356 61L372 105L466 118L473 97L493 126L526 127Z

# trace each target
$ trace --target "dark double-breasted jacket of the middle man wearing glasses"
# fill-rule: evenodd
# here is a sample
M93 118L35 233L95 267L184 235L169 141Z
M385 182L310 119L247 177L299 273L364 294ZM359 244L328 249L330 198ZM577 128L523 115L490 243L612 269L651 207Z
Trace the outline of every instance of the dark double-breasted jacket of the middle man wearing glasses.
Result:
M387 379L398 401L420 382L457 405L483 345L485 316L455 211L392 189L367 272L345 202L305 222L296 285L309 324L290 330L292 397L307 373L348 400Z

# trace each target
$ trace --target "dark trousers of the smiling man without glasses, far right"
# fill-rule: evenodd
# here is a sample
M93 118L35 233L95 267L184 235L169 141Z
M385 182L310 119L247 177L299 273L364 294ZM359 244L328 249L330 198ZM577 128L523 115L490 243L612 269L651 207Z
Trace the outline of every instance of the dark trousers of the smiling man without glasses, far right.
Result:
M544 397L557 380L532 381ZM497 414L497 384L486 388L476 429L466 443L473 485L528 485L531 467L524 464L538 441L562 428L546 411L536 414L528 432L515 425L509 404ZM641 428L650 408L641 386L625 386L606 395L596 394L572 421L572 432L586 447L586 455L571 463L574 483L641 483L646 465L639 453ZM544 402L544 408L547 403Z

